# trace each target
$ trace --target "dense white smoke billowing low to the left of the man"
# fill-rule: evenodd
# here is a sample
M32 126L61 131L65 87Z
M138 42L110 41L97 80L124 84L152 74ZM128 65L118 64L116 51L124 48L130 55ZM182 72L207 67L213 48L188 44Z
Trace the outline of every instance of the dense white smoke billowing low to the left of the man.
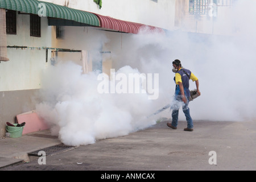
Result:
M155 123L154 118L147 119L152 104L146 94L100 94L97 73L81 73L82 68L69 61L49 67L44 74L40 93L44 101L36 110L63 143L94 143Z

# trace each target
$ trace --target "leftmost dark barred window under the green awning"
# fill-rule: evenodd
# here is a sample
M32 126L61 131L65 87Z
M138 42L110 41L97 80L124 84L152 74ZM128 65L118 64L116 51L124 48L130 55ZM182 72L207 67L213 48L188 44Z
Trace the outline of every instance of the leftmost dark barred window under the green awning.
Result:
M16 11L6 10L6 34L16 35Z

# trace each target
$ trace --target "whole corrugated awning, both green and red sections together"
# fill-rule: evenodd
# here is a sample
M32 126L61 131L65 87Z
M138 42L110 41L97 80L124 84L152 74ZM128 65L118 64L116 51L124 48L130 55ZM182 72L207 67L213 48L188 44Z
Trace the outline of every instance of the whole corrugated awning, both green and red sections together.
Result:
M138 34L139 32L164 32L162 28L148 26L141 23L127 22L87 11L76 10L54 3L37 0L0 0L0 8L21 11L23 13L38 14L50 18L71 20L82 24L75 26L96 26L106 30ZM50 25L56 25L57 19L50 20ZM66 22L67 23L67 22ZM70 24L70 22L68 22ZM72 23L74 24L74 23Z

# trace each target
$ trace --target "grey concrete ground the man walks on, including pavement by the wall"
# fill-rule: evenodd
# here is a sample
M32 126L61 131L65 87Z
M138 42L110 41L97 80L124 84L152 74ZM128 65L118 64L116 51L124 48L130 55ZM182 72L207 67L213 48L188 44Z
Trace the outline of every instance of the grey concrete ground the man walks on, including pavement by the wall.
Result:
M177 130L170 129L166 126L167 121L163 121L123 137L98 140L47 156L45 165L40 165L38 158L30 161L26 154L60 143L57 138L31 135L3 138L0 140L0 171L254 171L255 122L194 121L194 131L189 132L183 131L187 126L184 121L179 121ZM49 135L47 132L41 131ZM20 163L22 160L27 162Z

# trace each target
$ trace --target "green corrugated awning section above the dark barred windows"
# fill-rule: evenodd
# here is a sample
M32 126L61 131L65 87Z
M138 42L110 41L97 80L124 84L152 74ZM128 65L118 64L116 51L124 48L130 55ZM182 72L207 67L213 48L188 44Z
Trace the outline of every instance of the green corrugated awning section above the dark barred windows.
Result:
M39 6L39 4L42 6ZM45 11L44 11L44 7L45 7ZM53 3L44 2L44 1L0 0L0 8L7 9L7 10L21 11L23 13L31 13L31 14L44 13L44 16L48 16L51 18L73 20L75 22L88 24L90 26L100 27L100 20L97 18L96 15L92 13L71 9L69 7L55 5Z

